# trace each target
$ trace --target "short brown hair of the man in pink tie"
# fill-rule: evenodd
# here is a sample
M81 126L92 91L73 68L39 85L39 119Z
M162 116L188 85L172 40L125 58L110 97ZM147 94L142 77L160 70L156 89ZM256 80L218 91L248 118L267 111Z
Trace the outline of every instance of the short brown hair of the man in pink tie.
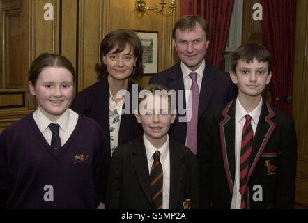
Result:
M176 38L176 30L180 31L193 31L197 22L202 27L204 33L206 33L206 40L210 39L210 28L206 20L200 15L185 15L174 24L174 28L172 29L172 38Z

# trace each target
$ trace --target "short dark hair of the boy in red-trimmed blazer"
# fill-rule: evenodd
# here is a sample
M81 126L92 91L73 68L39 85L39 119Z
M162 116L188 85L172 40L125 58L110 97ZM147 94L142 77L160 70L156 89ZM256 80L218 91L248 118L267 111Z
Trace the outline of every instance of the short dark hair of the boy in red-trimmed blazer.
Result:
M231 70L236 72L239 59L242 59L246 63L252 63L254 58L258 62L268 62L268 73L270 73L272 70L272 56L270 56L268 49L259 43L246 43L238 47L232 54Z

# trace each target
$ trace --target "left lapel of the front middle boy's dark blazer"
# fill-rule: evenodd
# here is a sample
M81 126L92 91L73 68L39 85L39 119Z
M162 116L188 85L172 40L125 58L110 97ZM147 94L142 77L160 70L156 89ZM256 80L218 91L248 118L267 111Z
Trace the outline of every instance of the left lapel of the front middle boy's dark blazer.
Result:
M150 187L150 177L148 174L148 162L146 157L146 148L144 147L144 140L142 137L135 140L136 145L134 145L134 171L136 171L137 177L141 184L148 201L152 204L151 198L151 187Z

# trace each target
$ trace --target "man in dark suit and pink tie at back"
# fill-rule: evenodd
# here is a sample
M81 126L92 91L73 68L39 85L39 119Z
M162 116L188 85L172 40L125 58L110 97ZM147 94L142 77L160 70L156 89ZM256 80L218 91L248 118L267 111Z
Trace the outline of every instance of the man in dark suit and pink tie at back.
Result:
M182 17L174 25L172 37L180 62L151 77L150 84L161 84L168 89L176 90L178 116L169 134L196 153L198 118L202 112L235 98L236 87L226 72L210 66L204 60L210 43L210 30L203 17L199 15ZM196 83L191 74L195 75ZM197 92L199 101L190 98L189 90L192 90L193 86L199 89ZM181 94L179 90L182 93L185 90L185 93ZM182 112L183 109L186 112ZM194 109L197 109L196 116L193 115ZM186 121L185 116L192 118ZM188 137L188 134L191 137Z

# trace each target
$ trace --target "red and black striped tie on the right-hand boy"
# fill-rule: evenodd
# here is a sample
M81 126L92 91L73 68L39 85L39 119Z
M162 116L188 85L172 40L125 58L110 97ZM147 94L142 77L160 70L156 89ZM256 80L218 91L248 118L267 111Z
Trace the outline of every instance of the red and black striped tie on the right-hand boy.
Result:
M247 178L249 170L249 157L252 154L254 132L252 131L252 117L245 115L246 122L242 128L242 143L240 145L240 194L242 195L240 209L247 208Z

